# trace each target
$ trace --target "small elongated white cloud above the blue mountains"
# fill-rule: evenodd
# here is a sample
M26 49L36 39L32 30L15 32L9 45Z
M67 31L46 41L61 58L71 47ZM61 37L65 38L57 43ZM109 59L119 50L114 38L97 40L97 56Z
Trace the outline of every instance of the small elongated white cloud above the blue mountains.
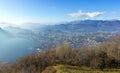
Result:
M83 12L82 10L79 10L76 13L70 13L68 15L74 18L80 18L80 17L94 18L103 14L104 12Z

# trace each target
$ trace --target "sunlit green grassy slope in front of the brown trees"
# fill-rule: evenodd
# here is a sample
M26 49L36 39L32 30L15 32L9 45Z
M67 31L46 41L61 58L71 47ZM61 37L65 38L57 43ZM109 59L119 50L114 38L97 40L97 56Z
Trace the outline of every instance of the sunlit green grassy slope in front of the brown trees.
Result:
M97 69L90 69L88 67L78 67L78 66L70 66L70 65L56 65L53 66L52 68L54 68L57 71L55 73L120 73L120 70L118 69L117 70L106 69L101 71Z

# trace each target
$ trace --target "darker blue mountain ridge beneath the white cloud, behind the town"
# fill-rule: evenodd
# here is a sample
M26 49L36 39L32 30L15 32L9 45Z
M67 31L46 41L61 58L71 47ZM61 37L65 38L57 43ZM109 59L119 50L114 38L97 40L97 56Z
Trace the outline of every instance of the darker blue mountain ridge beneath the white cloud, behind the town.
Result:
M64 24L48 26L49 31L70 31L70 32L119 32L119 20L85 20L73 21Z

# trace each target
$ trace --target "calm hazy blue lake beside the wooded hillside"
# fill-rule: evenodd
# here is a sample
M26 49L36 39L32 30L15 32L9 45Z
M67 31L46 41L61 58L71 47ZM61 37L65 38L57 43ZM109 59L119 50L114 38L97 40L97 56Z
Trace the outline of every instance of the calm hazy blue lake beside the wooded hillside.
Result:
M34 53L32 47L38 47L39 42L23 38L0 38L0 61L15 61L18 58Z

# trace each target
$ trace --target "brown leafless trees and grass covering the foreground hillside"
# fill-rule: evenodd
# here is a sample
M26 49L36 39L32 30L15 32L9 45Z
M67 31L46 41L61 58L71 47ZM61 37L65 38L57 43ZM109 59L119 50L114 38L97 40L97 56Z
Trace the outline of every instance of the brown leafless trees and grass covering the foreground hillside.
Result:
M64 44L41 51L22 57L8 67L1 67L0 73L56 73L59 68L62 73L96 73L92 70L97 70L97 73L118 73L120 36L96 46L72 48L69 44ZM118 72L107 72L112 69L117 69Z

